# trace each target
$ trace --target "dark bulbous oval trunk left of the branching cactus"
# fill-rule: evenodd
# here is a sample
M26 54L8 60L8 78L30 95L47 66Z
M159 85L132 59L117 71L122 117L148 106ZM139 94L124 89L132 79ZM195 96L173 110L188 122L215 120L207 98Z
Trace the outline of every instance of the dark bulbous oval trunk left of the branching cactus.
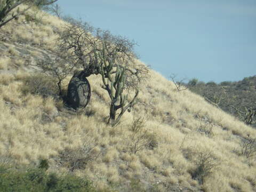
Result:
M86 71L77 71L68 84L67 101L74 109L86 107L91 98L91 87L86 79Z

